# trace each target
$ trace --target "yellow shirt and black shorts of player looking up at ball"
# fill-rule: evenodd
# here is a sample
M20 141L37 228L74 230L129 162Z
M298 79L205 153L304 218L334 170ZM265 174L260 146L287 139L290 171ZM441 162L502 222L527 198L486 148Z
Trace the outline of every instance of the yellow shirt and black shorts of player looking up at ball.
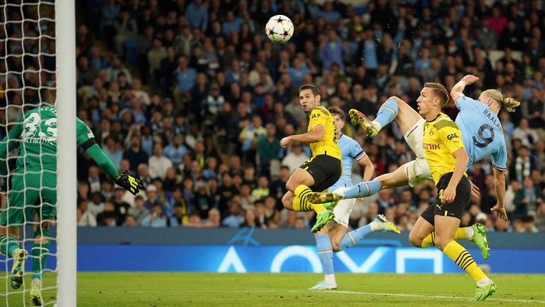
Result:
M326 190L341 178L341 149L337 145L337 130L333 124L333 117L322 106L315 107L310 113L309 128L324 126L324 138L321 141L310 144L312 157L305 161L300 168L309 172L314 178L314 185L309 187L314 192Z

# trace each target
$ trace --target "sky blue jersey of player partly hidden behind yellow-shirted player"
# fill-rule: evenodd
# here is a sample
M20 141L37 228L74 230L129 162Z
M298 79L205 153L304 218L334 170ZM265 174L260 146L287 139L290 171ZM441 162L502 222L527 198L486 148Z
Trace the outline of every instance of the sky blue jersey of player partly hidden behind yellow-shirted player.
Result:
M338 181L331 185L328 189L329 192L333 192L340 187L352 187L352 161L353 159L359 160L365 156L365 152L361 149L360 144L355 139L349 136L341 134L341 137L337 139L338 148L341 149L341 159L343 161L343 176L338 178Z

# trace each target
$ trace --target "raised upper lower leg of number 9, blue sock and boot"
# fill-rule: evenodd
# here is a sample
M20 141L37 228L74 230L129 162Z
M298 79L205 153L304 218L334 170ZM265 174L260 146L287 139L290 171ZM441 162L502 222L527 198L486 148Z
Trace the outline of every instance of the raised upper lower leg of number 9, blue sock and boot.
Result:
M356 109L350 109L348 116L350 117L352 124L363 127L365 134L368 136L377 136L378 131L380 131L383 126L390 124L390 122L397 117L398 113L399 106L397 102L394 99L389 98L380 106L377 117L373 122L365 117L365 114Z

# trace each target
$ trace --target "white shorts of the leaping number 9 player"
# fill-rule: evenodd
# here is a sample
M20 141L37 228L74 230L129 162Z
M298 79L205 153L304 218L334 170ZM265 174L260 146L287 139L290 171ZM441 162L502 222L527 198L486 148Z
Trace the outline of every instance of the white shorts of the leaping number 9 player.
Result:
M409 147L414 154L417 155L417 158L414 161L404 164L407 179L411 187L433 180L431 171L429 171L428 161L426 161L426 156L424 156L424 149L422 148L424 121L425 119L420 119L411 129L409 129L409 131L407 131L407 134L404 135L405 141L407 141L407 144L409 144Z

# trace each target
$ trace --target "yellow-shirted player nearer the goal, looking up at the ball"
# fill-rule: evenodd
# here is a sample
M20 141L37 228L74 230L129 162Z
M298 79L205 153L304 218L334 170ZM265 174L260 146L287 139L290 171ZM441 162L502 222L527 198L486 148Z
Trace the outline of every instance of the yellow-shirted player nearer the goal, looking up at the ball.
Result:
M334 220L332 210L337 202L312 204L308 197L313 191L326 190L341 177L341 150L337 145L333 117L320 105L320 92L316 85L299 87L299 104L303 111L309 114L307 133L286 136L280 140L280 146L286 148L292 142L310 144L312 157L297 168L288 179L287 193L282 197L282 204L294 211L314 210L317 215L312 232L317 232Z

